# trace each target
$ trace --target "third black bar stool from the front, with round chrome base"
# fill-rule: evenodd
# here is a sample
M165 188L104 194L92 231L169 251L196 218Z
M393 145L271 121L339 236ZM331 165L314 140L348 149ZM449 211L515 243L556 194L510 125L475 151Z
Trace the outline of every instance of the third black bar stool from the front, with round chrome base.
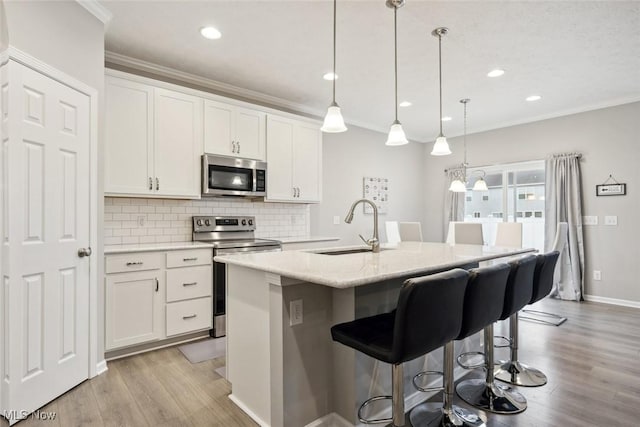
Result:
M504 306L498 320L505 320L531 300L536 256L526 255L509 263L511 269L504 292ZM496 297L499 297L496 295ZM484 328L484 379L469 379L458 383L456 393L469 405L498 414L517 414L527 409L527 399L511 387L495 383L493 360L493 323Z

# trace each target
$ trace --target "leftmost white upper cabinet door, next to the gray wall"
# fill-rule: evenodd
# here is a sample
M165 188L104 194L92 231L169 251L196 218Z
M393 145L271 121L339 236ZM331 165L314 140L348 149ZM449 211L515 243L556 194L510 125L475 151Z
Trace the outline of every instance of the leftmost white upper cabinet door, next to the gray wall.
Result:
M153 88L106 78L104 192L150 194L153 178Z

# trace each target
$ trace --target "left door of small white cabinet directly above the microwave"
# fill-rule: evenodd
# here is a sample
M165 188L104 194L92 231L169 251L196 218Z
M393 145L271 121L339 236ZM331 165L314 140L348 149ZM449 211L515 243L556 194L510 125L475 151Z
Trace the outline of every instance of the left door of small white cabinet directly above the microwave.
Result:
M204 101L204 152L235 156L234 108L210 100Z

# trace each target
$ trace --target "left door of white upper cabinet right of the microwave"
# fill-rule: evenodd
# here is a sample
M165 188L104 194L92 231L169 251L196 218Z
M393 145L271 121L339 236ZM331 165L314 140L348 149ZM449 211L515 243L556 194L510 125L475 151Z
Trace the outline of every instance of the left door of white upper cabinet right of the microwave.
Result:
M268 201L293 201L292 147L294 122L277 116L267 121Z

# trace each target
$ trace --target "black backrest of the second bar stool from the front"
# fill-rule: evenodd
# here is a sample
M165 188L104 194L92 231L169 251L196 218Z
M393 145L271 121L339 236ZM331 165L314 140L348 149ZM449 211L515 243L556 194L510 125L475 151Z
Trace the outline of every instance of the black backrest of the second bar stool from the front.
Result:
M511 267L502 263L469 272L462 327L456 340L473 335L500 318L510 271Z

